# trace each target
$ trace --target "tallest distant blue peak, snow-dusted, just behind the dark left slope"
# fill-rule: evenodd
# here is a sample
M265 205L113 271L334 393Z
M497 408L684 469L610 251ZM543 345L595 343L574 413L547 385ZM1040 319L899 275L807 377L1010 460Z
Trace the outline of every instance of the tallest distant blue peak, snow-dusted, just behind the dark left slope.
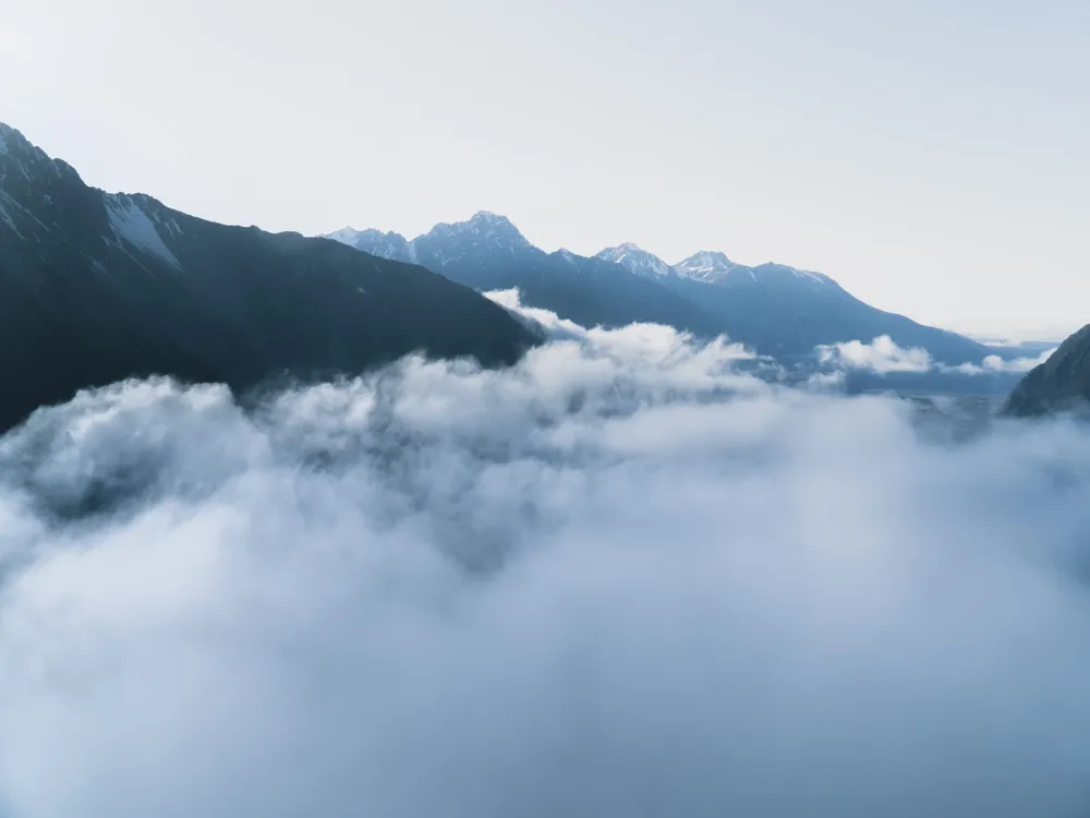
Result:
M403 237L372 230L340 230L336 239L367 252L401 252ZM383 237L383 238L378 238ZM583 326L658 323L703 337L719 323L686 297L633 275L619 264L566 250L546 253L504 216L481 212L469 221L436 225L405 241L409 257L453 281L481 291L518 288L522 302L552 310Z

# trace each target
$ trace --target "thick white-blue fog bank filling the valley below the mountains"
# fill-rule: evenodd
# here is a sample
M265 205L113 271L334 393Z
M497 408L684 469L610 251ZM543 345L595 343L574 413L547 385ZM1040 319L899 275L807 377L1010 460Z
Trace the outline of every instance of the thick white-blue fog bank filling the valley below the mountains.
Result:
M0 815L1087 814L1090 433L522 314L0 438Z

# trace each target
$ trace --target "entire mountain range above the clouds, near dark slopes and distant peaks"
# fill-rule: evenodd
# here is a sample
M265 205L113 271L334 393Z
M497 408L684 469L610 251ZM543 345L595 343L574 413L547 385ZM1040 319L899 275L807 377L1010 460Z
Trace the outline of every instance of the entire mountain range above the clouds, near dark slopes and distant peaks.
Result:
M0 432L80 389L130 377L219 382L244 394L355 375L414 351L511 363L544 338L480 292L510 288L584 326L726 334L782 360L882 335L945 364L997 352L872 308L820 273L750 267L714 251L667 264L634 244L547 253L485 212L412 241L219 225L145 194L90 188L0 123ZM1087 332L1030 373L1012 413L1090 397Z

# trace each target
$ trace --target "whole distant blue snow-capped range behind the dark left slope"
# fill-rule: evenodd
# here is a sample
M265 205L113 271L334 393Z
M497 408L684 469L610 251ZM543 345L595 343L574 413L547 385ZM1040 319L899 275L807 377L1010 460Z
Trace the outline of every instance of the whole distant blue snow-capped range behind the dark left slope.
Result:
M635 244L594 256L547 253L504 216L481 212L411 241L343 228L326 238L412 262L476 290L518 288L522 301L584 326L668 324L698 337L726 334L763 354L791 359L815 347L887 335L944 364L980 363L996 349L863 303L836 281L783 264L755 267L702 251L668 264ZM1001 351L1002 353L1002 351Z

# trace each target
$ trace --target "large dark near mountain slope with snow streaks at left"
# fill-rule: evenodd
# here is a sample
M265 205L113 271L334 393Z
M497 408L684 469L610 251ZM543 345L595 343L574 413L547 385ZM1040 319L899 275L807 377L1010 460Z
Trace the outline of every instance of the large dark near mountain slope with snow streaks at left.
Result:
M423 267L105 193L0 125L0 430L128 377L245 390L414 350L506 363L537 340Z

